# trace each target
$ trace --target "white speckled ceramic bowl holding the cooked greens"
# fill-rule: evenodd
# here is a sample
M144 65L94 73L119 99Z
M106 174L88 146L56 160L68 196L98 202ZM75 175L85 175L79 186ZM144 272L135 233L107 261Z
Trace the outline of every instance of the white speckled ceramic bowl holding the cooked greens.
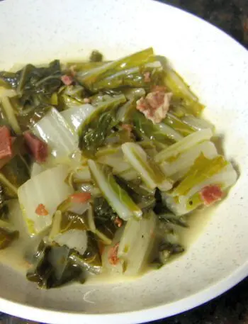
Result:
M153 46L191 84L240 177L185 255L137 281L41 291L1 265L0 310L46 323L131 324L198 306L248 274L248 53L208 23L147 0L0 2L0 69L13 63L108 59Z

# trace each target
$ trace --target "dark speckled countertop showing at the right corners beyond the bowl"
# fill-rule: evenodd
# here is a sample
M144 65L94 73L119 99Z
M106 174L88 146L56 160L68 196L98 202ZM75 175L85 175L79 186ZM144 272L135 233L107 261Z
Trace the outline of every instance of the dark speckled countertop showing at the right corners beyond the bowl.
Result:
M248 0L164 0L213 23L248 49ZM248 278L191 311L152 324L248 324Z

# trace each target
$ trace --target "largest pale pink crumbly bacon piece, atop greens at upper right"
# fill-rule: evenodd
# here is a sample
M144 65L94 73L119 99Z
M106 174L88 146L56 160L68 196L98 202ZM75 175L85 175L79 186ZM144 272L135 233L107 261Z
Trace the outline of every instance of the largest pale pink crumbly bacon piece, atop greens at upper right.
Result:
M160 123L167 116L171 96L171 92L152 91L136 102L136 108L152 123Z

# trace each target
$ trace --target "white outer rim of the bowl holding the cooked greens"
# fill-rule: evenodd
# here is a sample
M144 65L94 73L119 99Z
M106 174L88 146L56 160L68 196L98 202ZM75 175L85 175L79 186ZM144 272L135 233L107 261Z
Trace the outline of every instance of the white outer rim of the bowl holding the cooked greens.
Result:
M152 1L152 0L146 0ZM190 20L198 21L200 24L208 26L215 30L215 33L218 33L225 38L230 45L238 46L239 49L242 49L243 52L247 55L248 62L248 51L244 45L240 44L232 38L230 35L225 33L224 30L214 26L212 23L203 20L198 16L195 16L193 13L190 13L184 9L179 9L176 6L171 4L164 4L159 2L159 0L153 0L154 6L166 6L168 11L174 11L176 14L181 14L188 16ZM92 323L94 324L137 324L137 323L147 323L152 320L159 320L161 318L168 318L169 316L188 311L197 306L201 306L203 303L206 303L213 298L220 296L225 293L225 291L231 289L233 286L242 281L245 277L248 276L248 260L244 262L241 266L237 267L234 272L229 276L226 276L220 281L217 281L215 284L208 286L205 289L198 291L196 294L191 294L185 298L179 299L167 304L162 304L159 306L152 306L150 308L140 309L137 311L124 311L118 313L80 313L80 312L69 312L69 311L59 311L59 310L49 310L47 308L40 308L35 306L28 306L25 303L19 303L16 301L9 301L6 298L0 297L1 311L13 315L16 317L25 318L28 320L40 321L42 319L43 323L50 324L68 324L69 321L74 321L74 323L80 322L83 324Z

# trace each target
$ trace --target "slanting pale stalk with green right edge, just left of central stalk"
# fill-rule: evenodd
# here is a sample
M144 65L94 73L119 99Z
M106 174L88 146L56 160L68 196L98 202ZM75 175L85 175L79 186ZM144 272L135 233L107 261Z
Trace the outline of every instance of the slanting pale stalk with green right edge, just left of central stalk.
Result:
M111 173L106 174L101 164L94 160L89 160L88 164L96 185L114 211L118 213L118 216L123 220L128 220L131 217L140 218L142 211L125 190L117 184L113 175Z

